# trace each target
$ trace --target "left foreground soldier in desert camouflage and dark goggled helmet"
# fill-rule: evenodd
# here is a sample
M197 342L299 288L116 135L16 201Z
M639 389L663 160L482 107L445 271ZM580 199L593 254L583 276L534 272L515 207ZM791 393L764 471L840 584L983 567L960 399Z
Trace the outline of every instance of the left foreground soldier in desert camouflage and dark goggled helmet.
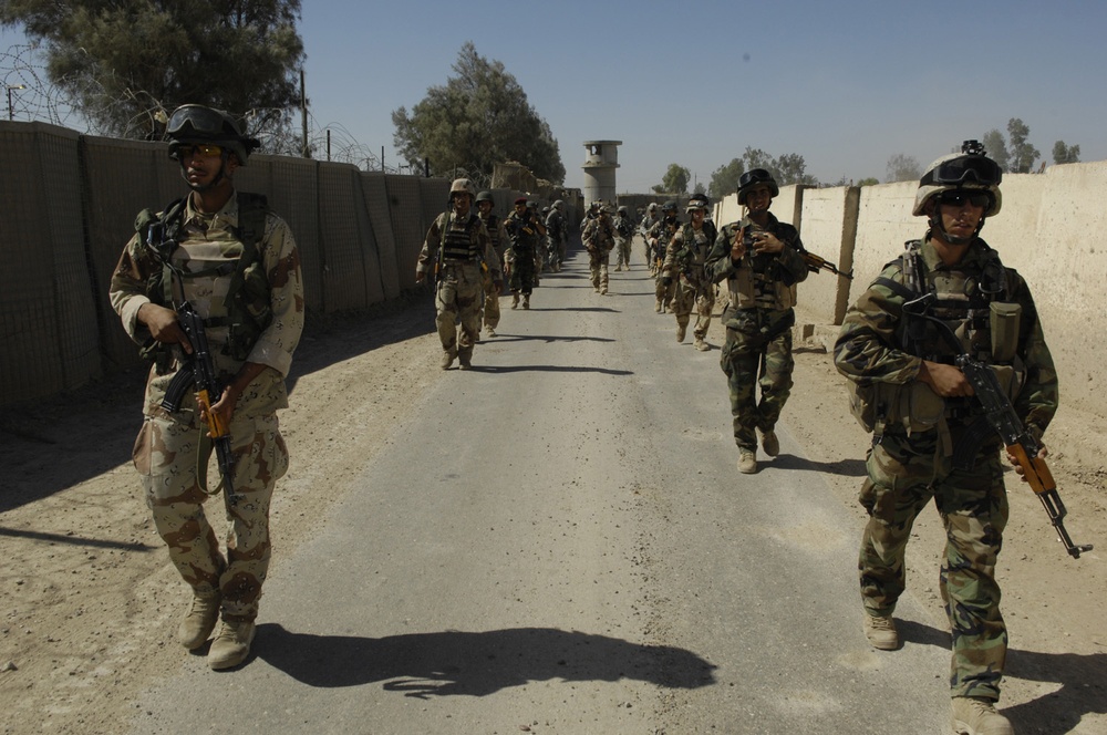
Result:
M198 649L219 621L207 663L230 669L250 653L269 569L269 503L288 469L277 411L288 407L284 376L303 329L303 282L288 225L265 197L235 191L235 173L258 142L227 113L195 104L174 111L166 132L190 191L165 211L139 215L112 276L111 301L127 334L155 359L134 465L157 532L192 588L177 641ZM170 384L187 391L203 349L178 321L189 307L203 319L223 386L207 408L177 390L179 405L163 403ZM178 375L184 380L174 382ZM221 429L209 435L209 423L226 427L232 456L211 494L207 463ZM204 513L219 489L230 524L226 556Z

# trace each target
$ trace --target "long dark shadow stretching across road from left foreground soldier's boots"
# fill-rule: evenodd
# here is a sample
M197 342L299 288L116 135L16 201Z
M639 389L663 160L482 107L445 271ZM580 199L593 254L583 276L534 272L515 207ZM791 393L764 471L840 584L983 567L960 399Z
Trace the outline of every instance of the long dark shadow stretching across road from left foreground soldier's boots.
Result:
M386 638L294 633L258 627L259 659L310 686L383 682L405 696L484 696L529 682L631 679L668 689L715 683L715 666L699 655L607 635L552 628L446 631Z

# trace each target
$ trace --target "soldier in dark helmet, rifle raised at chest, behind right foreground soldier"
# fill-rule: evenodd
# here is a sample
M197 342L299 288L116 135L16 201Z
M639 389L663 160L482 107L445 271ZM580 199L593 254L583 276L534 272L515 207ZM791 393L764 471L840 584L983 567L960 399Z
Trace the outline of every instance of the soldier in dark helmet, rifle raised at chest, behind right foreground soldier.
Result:
M743 174L738 204L748 214L723 228L704 263L712 282L725 280L730 292L720 364L731 390L738 472L747 475L757 472L756 432L765 454L780 452L775 427L792 393L796 283L808 272L799 232L768 210L779 193L764 168Z

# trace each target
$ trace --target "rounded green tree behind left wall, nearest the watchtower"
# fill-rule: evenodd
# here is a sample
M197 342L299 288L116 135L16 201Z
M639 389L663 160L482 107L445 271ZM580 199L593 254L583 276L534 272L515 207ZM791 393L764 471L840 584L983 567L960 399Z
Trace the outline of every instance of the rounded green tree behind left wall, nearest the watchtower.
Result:
M549 124L501 62L488 61L467 41L455 76L432 86L408 114L392 112L393 142L408 164L431 162L431 172L463 172L488 179L498 163L516 161L535 176L565 182L565 165Z

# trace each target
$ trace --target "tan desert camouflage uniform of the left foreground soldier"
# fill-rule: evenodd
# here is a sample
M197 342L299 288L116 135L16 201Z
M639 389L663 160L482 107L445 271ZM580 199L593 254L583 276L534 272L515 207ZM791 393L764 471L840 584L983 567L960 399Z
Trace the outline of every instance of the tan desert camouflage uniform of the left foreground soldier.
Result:
M186 273L196 273L237 260L244 250L235 232L238 225L237 197L232 196L211 216L194 210L189 199L180 244L172 256L174 263ZM277 479L288 468L288 452L280 435L277 411L288 407L284 376L303 329L303 284L296 242L284 221L272 214L266 218L259 262L271 289L272 321L247 358L247 362L263 364L267 370L242 392L229 426L236 499L228 501L224 497L227 519L231 524L226 559L204 514L204 503L210 496L199 486L197 452L200 432L206 433L207 427L201 427L195 397L186 394L180 411L172 414L161 405L169 382L182 366L176 359L165 374L151 370L144 402L145 421L134 447L134 465L142 477L146 504L153 511L158 534L168 546L174 566L197 596L211 597L220 592L223 618L230 621L252 621L258 614L258 600L270 560L269 504ZM161 269L135 236L112 277L112 306L127 333L139 343L151 335L138 321L137 313L151 302L146 292L147 279ZM214 275L186 278L183 296L206 322L219 320L228 313L224 297L229 280L227 276ZM211 325L206 332L216 370L221 382L227 384L242 362L223 353L228 339L227 327ZM214 488L216 483L211 482L210 486Z

